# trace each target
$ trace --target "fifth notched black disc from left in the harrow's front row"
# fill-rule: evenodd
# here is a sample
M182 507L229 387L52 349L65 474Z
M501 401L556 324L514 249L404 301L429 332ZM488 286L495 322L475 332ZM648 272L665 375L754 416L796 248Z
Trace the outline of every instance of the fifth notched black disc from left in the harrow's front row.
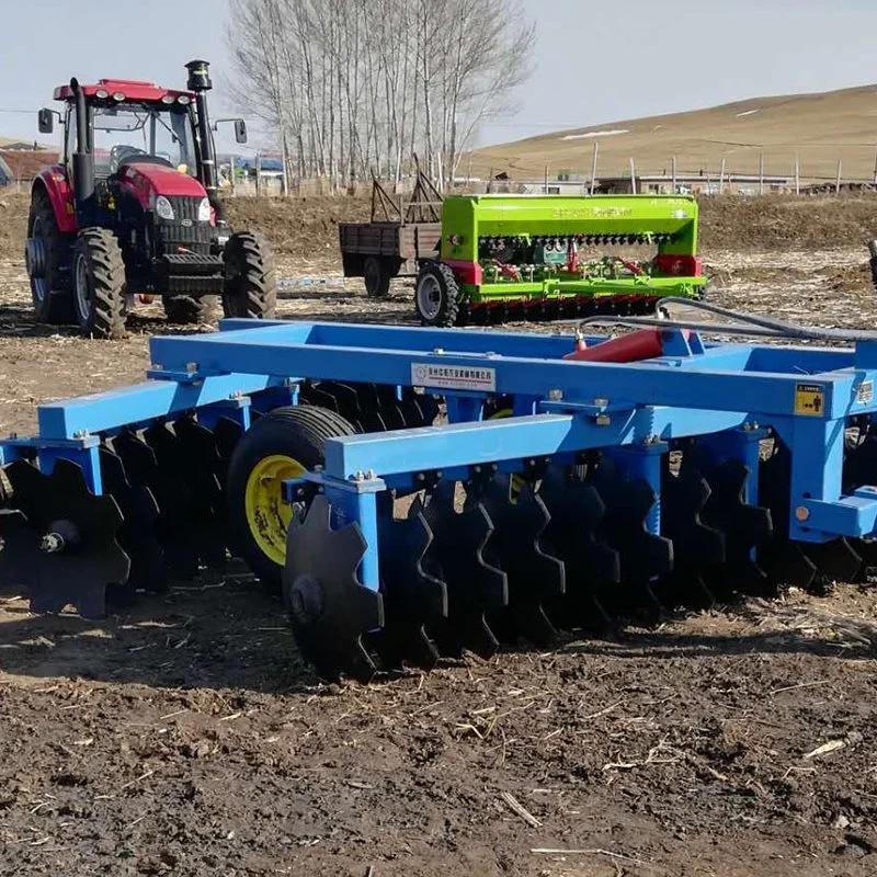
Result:
M549 601L548 615L560 627L612 626L601 593L620 582L618 551L599 535L606 506L592 485L549 466L539 485L549 514L545 536L563 561L565 595Z

